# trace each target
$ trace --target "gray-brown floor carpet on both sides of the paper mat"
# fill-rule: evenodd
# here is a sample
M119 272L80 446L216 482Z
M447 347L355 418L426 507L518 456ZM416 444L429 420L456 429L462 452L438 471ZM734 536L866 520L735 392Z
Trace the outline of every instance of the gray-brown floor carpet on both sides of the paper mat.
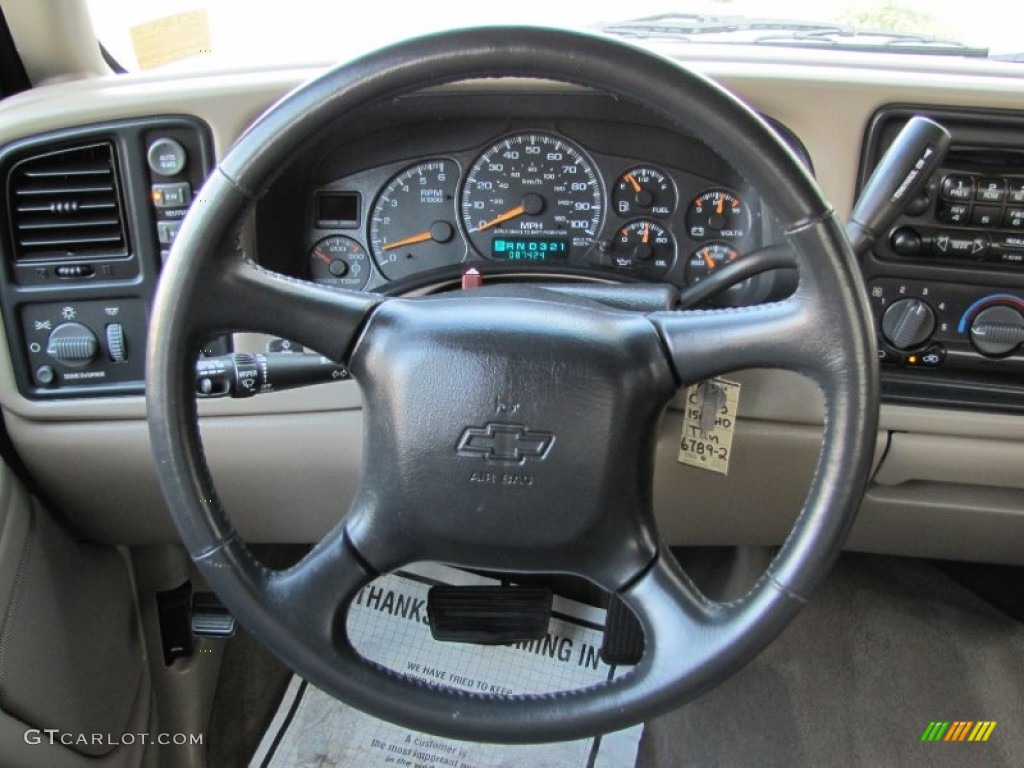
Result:
M224 657L210 765L245 766L289 672L244 634ZM995 720L985 743L922 743ZM638 768L1024 766L1024 625L928 563L845 555L800 617L716 690L648 724Z

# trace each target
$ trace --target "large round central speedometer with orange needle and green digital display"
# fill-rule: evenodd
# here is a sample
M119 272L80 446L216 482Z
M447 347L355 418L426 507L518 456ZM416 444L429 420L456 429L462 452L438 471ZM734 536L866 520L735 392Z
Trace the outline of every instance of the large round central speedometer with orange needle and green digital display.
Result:
M503 138L473 163L462 222L480 255L564 261L594 244L604 193L584 152L548 133Z

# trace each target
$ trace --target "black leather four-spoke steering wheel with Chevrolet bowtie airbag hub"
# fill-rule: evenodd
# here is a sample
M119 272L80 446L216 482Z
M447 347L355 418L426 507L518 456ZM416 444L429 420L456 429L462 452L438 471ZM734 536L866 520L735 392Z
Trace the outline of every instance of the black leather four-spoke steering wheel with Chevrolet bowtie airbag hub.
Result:
M274 172L353 110L428 86L524 77L593 87L702 139L777 215L797 254L783 301L626 311L543 287L385 299L264 270L232 239ZM666 58L587 35L489 28L400 43L328 72L272 106L198 197L161 279L148 338L148 422L160 480L188 553L253 635L317 687L383 719L461 739L539 742L623 728L693 698L764 648L838 556L866 481L877 359L853 255L814 181L726 91ZM200 441L195 350L225 331L293 339L345 362L364 395L364 466L347 514L287 570L260 564L220 505ZM821 453L804 507L751 591L706 597L659 540L658 420L680 386L780 368L821 388ZM489 457L466 435L509 421ZM528 462L528 466L527 466ZM471 482L477 470L528 475ZM433 560L573 573L620 596L641 662L597 686L492 696L364 659L345 633L358 590Z

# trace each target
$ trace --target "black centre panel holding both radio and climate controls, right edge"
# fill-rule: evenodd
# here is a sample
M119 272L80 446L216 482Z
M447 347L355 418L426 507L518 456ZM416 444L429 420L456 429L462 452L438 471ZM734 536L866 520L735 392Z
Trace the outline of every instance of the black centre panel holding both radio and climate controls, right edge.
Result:
M952 144L861 263L883 396L1024 411L1024 113L885 108L868 127L861 185L913 115Z

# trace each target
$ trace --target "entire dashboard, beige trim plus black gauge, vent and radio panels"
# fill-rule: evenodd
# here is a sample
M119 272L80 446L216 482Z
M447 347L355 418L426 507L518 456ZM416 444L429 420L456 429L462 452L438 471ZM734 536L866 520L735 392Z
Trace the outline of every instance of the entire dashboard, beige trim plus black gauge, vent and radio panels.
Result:
M861 263L880 350L890 356L883 359L877 469L850 546L1018 562L1022 351L1018 344L986 353L971 329L1013 326L1013 315L977 315L990 306L1017 311L1024 295L1016 260L1024 249L1008 224L1018 220L1009 196L1024 177L1019 76L950 72L899 57L882 67L829 53L813 54L816 63L758 55L767 58L730 53L688 63L771 120L805 165L813 163L841 215L906 116L930 115L953 133L953 152L927 202L882 233ZM0 406L32 475L90 538L175 540L153 472L141 396L153 291L176 224L201 203L215 161L262 110L312 74L91 79L0 105L8 219L18 178L12 174L32 171L33 159L81 150L72 160L94 164L98 152L115 182L123 240L113 248L22 255L9 227L3 232ZM166 140L183 150L182 166L173 164L177 150ZM155 144L167 152L154 153ZM583 89L516 80L461 84L326 126L239 222L237 245L269 269L365 291L457 288L474 279L470 269L485 282L515 273L683 289L780 242L771 211L741 170L656 118ZM966 180L969 201L944 191L948 177L949 189L956 177ZM997 222L972 218L993 207L976 197L991 180L1005 189L994 203ZM948 220L951 205L967 207L959 220ZM984 257L961 252L978 238L988 239ZM970 245L962 248L962 241ZM792 280L782 270L766 273L719 303L771 301L792 291ZM918 309L899 324L895 314L886 319L908 299L934 321L921 323L919 313L929 315ZM92 341L83 344L77 328L66 330L70 341L54 340L55 329L68 324L85 328ZM286 342L236 334L203 349L212 356L262 353ZM114 359L119 349L123 360ZM921 365L933 352L938 365ZM58 359L69 354L88 360ZM821 434L816 387L779 372L735 378L743 385L741 423L727 477L678 464L679 411L666 416L655 508L673 543L777 544L813 473ZM236 521L246 539L308 542L334 524L358 481L359 404L354 382L201 403L218 489L229 510L240 510ZM685 511L680 499L689 500Z

